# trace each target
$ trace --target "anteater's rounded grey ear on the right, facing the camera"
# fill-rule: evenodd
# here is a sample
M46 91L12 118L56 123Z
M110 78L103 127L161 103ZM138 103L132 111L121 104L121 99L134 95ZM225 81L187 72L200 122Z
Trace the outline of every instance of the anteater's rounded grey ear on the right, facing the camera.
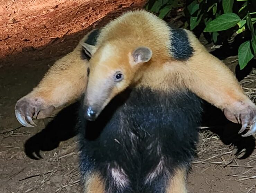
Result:
M138 64L138 63L145 63L148 62L152 57L152 51L148 47L138 47L132 52L132 63Z

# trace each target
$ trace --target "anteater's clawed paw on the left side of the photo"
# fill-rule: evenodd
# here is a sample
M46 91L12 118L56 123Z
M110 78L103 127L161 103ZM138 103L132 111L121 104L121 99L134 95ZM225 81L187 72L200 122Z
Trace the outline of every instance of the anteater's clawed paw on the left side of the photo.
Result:
M15 105L15 115L20 124L34 127L33 119L43 119L51 115L54 106L46 105L43 100L23 97Z

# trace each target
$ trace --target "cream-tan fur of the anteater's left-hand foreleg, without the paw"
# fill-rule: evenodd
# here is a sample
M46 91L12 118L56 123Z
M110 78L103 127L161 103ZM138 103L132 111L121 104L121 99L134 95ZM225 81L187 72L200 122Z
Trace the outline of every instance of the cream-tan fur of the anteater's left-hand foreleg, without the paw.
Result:
M80 41L84 41L87 35ZM61 109L76 101L87 84L88 61L81 59L79 45L56 61L44 78L26 97L42 99L45 104Z

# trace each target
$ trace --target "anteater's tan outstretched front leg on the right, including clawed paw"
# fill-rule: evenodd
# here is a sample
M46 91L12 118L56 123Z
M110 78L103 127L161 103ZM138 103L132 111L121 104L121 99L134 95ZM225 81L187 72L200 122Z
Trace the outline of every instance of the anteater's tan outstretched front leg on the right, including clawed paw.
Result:
M203 47L188 32L194 48L194 55L184 66L185 84L198 96L223 110L228 120L241 123L243 132L247 126L250 130L242 135L249 136L256 132L256 106L244 94L234 74Z

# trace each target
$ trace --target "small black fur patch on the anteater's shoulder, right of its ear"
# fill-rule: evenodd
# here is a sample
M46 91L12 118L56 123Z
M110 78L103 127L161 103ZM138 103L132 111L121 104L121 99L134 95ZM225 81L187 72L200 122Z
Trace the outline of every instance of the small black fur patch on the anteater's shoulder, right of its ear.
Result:
M177 60L187 60L192 57L194 49L191 47L184 29L170 28L170 53Z

